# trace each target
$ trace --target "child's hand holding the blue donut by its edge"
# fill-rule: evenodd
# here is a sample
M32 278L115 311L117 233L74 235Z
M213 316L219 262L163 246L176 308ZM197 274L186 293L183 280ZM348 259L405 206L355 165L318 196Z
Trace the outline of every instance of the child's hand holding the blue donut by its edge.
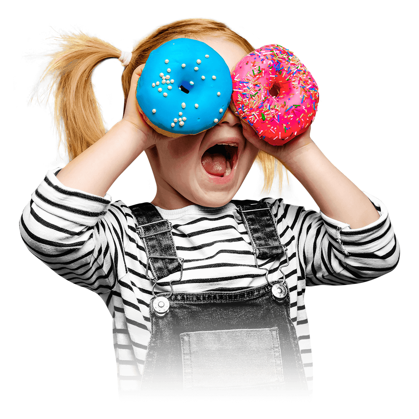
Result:
M166 137L165 135L156 132L150 125L145 122L142 114L137 107L136 90L138 79L141 76L142 70L145 64L140 65L134 70L131 78L131 86L129 88L127 106L125 106L123 121L131 123L135 128L138 129L140 135L143 134L145 137L144 145L145 148L153 146L158 141L170 141L172 137Z

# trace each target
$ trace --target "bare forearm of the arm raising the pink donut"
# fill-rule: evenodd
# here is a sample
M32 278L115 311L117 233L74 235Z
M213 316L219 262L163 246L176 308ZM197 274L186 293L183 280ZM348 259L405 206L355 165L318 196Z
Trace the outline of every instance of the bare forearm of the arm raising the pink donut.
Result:
M288 170L304 186L321 211L328 217L361 228L379 218L362 193L314 144L307 142L287 156Z

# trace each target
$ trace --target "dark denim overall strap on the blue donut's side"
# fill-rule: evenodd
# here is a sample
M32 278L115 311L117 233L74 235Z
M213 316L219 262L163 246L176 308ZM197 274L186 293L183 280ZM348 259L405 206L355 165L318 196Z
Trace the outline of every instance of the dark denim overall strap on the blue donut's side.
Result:
M150 266L154 276L150 278L146 272L147 278L158 281L174 272L181 272L183 263L176 254L171 223L164 220L149 202L130 205L129 209L135 217L137 233L144 243L147 267Z

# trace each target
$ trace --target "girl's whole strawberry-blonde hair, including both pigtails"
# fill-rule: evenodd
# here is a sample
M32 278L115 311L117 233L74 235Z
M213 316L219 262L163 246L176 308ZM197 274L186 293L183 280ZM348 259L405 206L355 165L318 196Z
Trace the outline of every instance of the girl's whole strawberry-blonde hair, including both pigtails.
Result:
M188 18L160 25L134 43L131 61L121 76L124 110L132 74L147 61L151 51L171 39L202 36L222 37L242 47L247 53L254 50L253 45L241 34L215 19ZM106 59L118 59L121 50L81 31L57 33L52 39L56 41L57 48L44 54L50 59L31 92L29 103L36 95L37 102L40 104L45 100L47 106L52 95L51 114L57 134L57 150L62 146L70 161L103 137L108 129L92 78L96 67ZM39 102L38 91L41 86L42 99ZM284 173L287 190L290 190L288 172L279 160L259 150L254 163L264 178L261 196L271 194L272 185L278 183L277 195L280 197Z

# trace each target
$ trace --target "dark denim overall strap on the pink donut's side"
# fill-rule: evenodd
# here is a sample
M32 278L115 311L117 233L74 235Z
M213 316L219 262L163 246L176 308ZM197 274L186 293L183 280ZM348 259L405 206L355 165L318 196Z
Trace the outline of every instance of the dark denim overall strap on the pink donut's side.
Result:
M258 258L269 259L285 253L286 247L279 239L271 204L253 199L233 199L231 202L243 219L253 251Z

